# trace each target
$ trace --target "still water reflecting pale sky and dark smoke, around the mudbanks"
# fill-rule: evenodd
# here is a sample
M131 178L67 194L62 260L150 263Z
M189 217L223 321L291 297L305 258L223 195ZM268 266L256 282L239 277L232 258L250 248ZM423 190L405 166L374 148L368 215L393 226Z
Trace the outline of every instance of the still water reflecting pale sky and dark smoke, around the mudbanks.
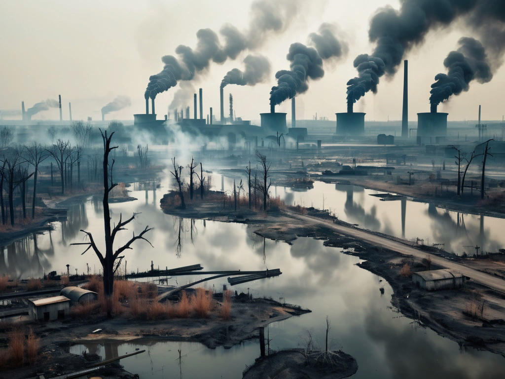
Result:
M220 180L214 182L220 183ZM392 220L399 217L399 211L389 207L395 207L394 204L399 207L400 202L378 202L377 198L367 196L365 191L351 187L352 207L359 204L364 210L359 213L363 216L354 216L352 212L346 213L345 202L348 201L349 189L335 189L333 185L330 192L327 184L321 184L323 183L316 183L313 192L294 193L286 190L283 196L292 194L293 202L299 204L306 201L305 205L310 205L307 204L308 200L303 199L309 199L307 196L313 194L314 206L321 207L322 204L317 202L322 200L320 195L324 193L325 208L331 208L340 218L351 222L352 217L358 217L363 223L356 222L362 226L372 228L370 225L375 225L377 230L383 231L387 225L393 231L392 234L397 233L398 223ZM342 254L338 248L325 247L322 241L309 238L300 238L293 245L287 245L264 240L243 224L191 221L166 215L159 208L159 199L168 185L168 182L162 181L162 188L157 190L153 190L150 184L133 185L131 196L138 200L111 205L114 219L121 212L142 212L132 225L135 232L146 224L156 227L149 235L154 248L138 243L126 255L128 271L137 268L147 270L151 260L155 267L160 268L195 263L210 270L280 268L283 274L279 277L234 288L239 292L252 292L255 296L283 299L313 311L270 325L271 348L274 350L302 346L307 330L312 330L316 342L323 344L325 317L328 315L331 320L331 346L333 349L343 349L358 360L357 378L502 377L505 360L501 356L474 349L461 349L457 343L418 326L415 321L392 309L392 289L379 276L356 266L359 258ZM276 190L280 193L284 188ZM418 205L425 207L424 211L421 208L415 211ZM374 216L371 221L367 221L366 215L370 217L374 206ZM436 225L438 221L426 213L429 206L408 202L407 207L406 214L409 215L410 222L413 219L427 220L430 224L425 226L426 232L433 230L433 224ZM472 216L465 216L467 227L467 220L471 218ZM389 223L386 220L390 220ZM489 225L486 224L487 233L491 233L492 223L494 220L488 222ZM406 221L406 233L411 227L408 228L407 225L409 221ZM415 230L415 226L412 228ZM68 220L56 223L55 230L51 233L31 236L5 247L3 256L0 257L0 272L20 277L38 276L51 270L65 271L67 263L72 272L75 269L78 272L86 271L86 263L91 272L98 272L95 256L90 252L81 255L81 248L69 245L82 241L79 229L91 231L95 236L101 235L103 219L99 200L90 199L72 206ZM401 233L401 223L399 230ZM129 232L131 230L124 232L125 240L128 239ZM95 239L101 240L99 237ZM180 285L198 278L198 275L181 277L178 282L174 278L169 283ZM208 286L220 289L225 282L226 279L218 279ZM381 287L384 288L383 295L379 291ZM72 351L80 353L87 349L110 357L132 352L135 348L146 349L147 352L127 358L122 363L131 372L139 373L140 377L153 378L176 378L180 377L181 371L182 377L238 378L245 365L254 363L259 355L259 345L255 341L229 350L212 350L194 343L150 341L147 345L80 345L73 347ZM178 349L181 349L182 355L180 366Z

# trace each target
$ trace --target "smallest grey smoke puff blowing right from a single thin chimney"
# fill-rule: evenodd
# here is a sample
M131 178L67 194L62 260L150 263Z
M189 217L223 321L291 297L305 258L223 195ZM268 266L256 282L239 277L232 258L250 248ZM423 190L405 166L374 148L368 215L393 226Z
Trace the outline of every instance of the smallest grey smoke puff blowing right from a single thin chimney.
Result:
M228 84L256 85L270 75L270 62L262 55L248 55L244 58L244 71L234 68L226 73L221 88Z

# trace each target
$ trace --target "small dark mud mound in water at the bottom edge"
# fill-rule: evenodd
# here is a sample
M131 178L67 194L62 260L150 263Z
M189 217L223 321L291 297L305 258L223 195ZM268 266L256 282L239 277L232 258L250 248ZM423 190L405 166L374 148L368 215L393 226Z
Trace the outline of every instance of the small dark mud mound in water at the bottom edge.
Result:
M356 359L343 351L321 353L292 349L258 358L254 365L246 369L242 378L341 379L354 375L357 371Z

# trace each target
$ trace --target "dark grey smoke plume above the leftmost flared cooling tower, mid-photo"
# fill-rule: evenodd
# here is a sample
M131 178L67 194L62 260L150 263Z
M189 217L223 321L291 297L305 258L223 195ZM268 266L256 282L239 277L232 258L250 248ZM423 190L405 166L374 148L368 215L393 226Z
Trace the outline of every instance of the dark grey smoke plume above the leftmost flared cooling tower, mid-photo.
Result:
M289 46L286 58L290 70L275 74L277 85L270 91L270 104L277 105L309 89L308 79L324 76L323 60L338 59L347 53L347 44L335 36L335 27L322 24L319 34L311 33L309 39L315 48L296 42Z

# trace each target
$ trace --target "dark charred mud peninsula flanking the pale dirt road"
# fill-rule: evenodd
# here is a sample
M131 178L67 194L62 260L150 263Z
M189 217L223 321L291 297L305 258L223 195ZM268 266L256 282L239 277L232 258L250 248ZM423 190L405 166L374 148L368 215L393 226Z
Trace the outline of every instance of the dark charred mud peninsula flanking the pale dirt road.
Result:
M268 212L255 212L244 209L245 207L242 206L241 209L234 211L223 208L222 202L204 199L204 201L188 203L187 208L182 210L174 207L171 200L167 201L167 198L171 196L174 194L169 193L161 200L161 207L168 214L246 223L257 234L288 244L297 237L312 237L324 240L326 246L341 248L346 254L356 255L365 260L360 263L360 267L380 275L388 281L394 291L391 303L402 314L463 346L473 346L505 354L505 320L503 319L505 296L500 292L481 286L471 279L467 280L465 288L458 290L426 292L418 289L413 285L412 272L442 267L430 265L424 262L425 259L403 255L352 236L337 233L330 228L328 220L333 223L345 223L330 216L327 212L314 208L297 209L307 216L312 216L312 221L308 222L307 217L298 217L292 207L284 209L272 207ZM380 235L391 240L401 241L397 238ZM411 242L404 242L406 245L412 245ZM459 259L462 264L479 269L479 265L474 264L474 260L464 260L438 249L428 247L421 249L425 249L427 255L435 253L450 260ZM402 274L402 268L405 265L409 267L409 270ZM501 265L499 266L501 267ZM486 269L486 272L489 273L489 269Z

